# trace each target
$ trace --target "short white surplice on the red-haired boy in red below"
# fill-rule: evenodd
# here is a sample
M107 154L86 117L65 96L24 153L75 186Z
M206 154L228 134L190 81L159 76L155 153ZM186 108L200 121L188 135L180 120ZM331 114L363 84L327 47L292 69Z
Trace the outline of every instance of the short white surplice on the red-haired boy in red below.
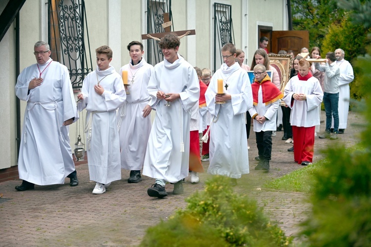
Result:
M292 100L294 93L303 93L307 99ZM290 124L298 127L312 127L320 124L317 107L321 105L323 97L324 93L317 78L311 77L307 81L299 80L298 76L291 78L283 93L284 102L291 108Z

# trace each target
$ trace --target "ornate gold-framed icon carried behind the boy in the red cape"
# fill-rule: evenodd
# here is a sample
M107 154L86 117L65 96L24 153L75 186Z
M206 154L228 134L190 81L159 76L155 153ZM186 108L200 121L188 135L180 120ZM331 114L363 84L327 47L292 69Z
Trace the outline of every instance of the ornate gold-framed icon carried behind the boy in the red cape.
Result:
M280 82L279 89L283 92L288 80L290 79L292 56L283 54L268 54L268 56L270 65L278 72Z

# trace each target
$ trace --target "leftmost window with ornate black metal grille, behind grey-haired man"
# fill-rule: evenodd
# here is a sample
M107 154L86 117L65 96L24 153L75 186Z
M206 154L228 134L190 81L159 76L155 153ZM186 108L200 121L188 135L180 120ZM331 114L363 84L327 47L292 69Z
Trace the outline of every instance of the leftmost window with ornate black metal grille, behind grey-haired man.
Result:
M85 1L48 0L48 7L50 57L67 66L72 87L81 88L93 71Z

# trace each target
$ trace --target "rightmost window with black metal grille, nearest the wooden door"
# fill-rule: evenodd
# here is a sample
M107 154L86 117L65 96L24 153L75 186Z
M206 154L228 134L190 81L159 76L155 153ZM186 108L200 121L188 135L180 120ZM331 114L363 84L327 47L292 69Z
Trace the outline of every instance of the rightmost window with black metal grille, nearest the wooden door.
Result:
M214 71L223 64L221 50L226 43L234 44L232 5L214 3Z

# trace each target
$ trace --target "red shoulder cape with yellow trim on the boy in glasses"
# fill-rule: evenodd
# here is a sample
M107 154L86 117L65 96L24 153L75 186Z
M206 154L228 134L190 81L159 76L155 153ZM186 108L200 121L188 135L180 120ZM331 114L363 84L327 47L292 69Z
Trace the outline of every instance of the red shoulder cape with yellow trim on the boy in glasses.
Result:
M260 86L262 87L263 103L266 105L283 98L282 92L271 82L271 78L267 74L262 82L255 80L255 82L251 84L253 104L255 106L258 105L258 92Z

